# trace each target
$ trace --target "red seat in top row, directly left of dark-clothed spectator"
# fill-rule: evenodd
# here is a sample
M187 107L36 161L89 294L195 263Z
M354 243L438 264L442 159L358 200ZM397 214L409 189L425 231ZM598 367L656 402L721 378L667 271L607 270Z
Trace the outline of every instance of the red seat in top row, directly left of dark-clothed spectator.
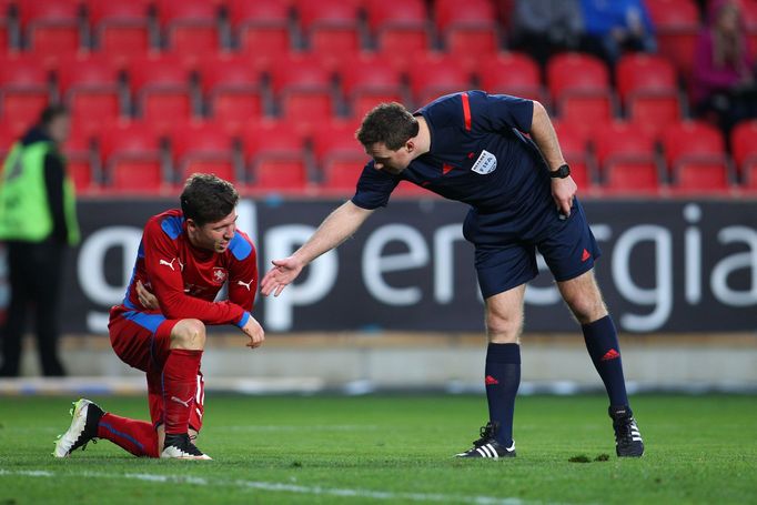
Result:
M498 49L494 7L488 0L437 0L436 26L447 51L468 68Z

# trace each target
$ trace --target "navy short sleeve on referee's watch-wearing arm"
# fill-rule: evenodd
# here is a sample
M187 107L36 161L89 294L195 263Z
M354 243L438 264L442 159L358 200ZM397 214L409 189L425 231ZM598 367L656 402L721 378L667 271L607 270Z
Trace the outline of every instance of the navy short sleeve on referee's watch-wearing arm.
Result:
M489 132L516 129L522 132L531 131L534 118L534 102L532 100L511 97L509 94L487 94L483 91L468 91L467 101L462 97L464 114L470 114L471 128ZM470 111L465 108L470 107Z

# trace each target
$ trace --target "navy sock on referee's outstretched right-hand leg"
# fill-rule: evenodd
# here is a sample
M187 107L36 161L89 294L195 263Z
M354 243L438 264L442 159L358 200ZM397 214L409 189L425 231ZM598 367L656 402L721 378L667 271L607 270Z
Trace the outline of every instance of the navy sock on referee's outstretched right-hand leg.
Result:
M602 382L605 383L609 404L613 406L628 405L626 382L623 378L620 346L613 320L606 315L593 323L582 325L581 329L584 331L588 355L592 356L594 366L599 372Z

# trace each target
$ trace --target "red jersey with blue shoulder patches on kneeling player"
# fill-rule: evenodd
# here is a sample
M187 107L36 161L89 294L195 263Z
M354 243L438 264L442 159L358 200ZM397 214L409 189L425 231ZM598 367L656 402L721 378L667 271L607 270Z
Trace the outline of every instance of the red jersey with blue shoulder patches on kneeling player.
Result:
M155 294L160 311L140 304L137 281ZM229 300L214 302L226 282ZM174 209L152 216L144 226L125 297L111 316L152 312L169 320L241 327L250 317L256 289L256 253L246 234L238 230L223 253L198 249L189 241L182 212Z

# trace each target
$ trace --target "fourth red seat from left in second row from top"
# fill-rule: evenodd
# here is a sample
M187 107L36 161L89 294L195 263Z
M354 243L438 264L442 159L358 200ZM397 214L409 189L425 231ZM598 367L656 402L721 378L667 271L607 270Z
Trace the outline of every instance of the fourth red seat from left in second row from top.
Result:
M239 131L264 111L260 74L242 55L216 55L200 63L202 90L210 112L229 131Z

